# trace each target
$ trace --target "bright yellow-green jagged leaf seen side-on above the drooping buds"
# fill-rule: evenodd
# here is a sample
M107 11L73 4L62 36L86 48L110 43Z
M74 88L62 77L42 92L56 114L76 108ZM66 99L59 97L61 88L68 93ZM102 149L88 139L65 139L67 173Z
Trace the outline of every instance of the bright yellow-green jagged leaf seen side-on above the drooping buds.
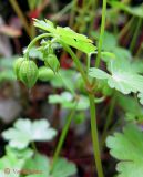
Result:
M84 53L92 53L96 50L96 46L92 44L92 41L83 34L79 34L70 28L54 28L53 23L49 20L34 20L34 25L50 32L59 42L67 43Z

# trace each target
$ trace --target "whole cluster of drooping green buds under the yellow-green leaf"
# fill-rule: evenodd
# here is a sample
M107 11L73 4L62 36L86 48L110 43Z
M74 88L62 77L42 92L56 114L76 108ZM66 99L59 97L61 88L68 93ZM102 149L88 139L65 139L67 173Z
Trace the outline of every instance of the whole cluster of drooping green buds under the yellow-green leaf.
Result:
M40 81L49 81L53 79L59 71L60 63L54 53L49 53L44 58L44 66L38 69L37 64L29 59L19 58L14 62L14 73L28 88L33 87L38 79Z

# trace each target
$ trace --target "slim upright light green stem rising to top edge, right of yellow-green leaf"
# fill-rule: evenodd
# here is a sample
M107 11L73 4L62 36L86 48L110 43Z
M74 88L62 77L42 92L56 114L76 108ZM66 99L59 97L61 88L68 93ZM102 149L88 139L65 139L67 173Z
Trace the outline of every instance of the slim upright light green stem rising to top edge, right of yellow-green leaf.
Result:
M95 61L95 67L99 67L100 65L100 56L101 56L102 42L103 42L103 35L104 35L104 28L105 28L105 14L106 14L106 0L103 0L101 32L100 32L100 40L98 44L98 56Z

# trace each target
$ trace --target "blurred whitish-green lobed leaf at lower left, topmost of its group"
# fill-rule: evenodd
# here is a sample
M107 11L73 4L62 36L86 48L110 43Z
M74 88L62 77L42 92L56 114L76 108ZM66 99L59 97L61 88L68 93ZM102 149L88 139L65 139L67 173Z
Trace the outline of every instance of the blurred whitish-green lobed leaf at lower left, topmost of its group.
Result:
M9 128L2 133L6 140L9 140L10 147L23 149L31 142L51 140L57 132L50 127L45 119L34 121L18 119L13 128Z

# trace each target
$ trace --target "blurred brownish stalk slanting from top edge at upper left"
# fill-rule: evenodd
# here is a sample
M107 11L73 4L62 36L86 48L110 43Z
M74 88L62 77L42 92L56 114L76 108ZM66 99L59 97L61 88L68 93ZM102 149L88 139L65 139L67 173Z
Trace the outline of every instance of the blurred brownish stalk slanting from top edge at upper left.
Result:
M31 38L31 31L30 31L30 27L29 27L29 23L25 19L25 17L23 15L19 4L18 4L18 1L17 0L10 0L10 3L12 6L12 8L14 9L14 11L17 12L19 19L21 19L22 23L23 23L23 27L28 33L28 35Z

